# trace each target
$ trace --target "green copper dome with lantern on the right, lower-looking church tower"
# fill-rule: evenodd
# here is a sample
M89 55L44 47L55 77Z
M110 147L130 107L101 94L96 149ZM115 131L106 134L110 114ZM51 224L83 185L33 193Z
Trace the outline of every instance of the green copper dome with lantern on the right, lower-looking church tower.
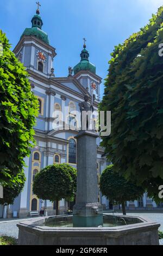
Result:
M89 52L86 50L86 45L84 44L84 49L80 54L81 61L73 68L74 75L76 75L81 70L88 70L93 74L96 74L96 67L89 62Z

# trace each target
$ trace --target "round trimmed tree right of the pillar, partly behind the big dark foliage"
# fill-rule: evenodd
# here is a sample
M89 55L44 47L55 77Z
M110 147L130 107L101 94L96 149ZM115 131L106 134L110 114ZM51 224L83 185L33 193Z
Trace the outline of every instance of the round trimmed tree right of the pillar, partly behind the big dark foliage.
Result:
M123 215L126 215L126 201L134 201L142 197L144 190L134 182L127 181L122 175L114 172L113 165L103 171L100 178L102 194L116 204L122 204Z

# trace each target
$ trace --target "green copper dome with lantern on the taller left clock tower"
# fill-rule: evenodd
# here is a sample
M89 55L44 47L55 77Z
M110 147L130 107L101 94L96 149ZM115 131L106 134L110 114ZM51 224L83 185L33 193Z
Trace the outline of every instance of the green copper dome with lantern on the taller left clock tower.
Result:
M39 38L40 40L44 41L46 44L49 44L48 40L48 34L44 31L42 31L42 25L43 22L41 20L41 17L39 16L40 12L39 10L36 11L36 15L34 15L32 19L32 28L26 28L21 35L21 38L23 35L34 35L35 37Z

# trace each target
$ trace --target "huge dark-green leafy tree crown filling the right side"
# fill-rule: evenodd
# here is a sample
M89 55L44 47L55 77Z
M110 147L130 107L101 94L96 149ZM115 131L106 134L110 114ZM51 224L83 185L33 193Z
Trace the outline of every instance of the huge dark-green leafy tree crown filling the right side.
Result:
M111 136L102 138L102 146L115 171L146 188L155 200L163 184L162 38L163 7L115 47L100 104L100 110L112 112Z

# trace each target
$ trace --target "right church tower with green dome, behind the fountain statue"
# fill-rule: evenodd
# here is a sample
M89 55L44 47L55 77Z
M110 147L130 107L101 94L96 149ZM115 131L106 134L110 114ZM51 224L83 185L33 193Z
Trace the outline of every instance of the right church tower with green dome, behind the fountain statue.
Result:
M100 85L102 78L96 74L96 66L89 61L90 54L86 50L86 39L84 38L83 50L80 53L80 62L73 68L74 78L83 85L87 91L92 94L91 85L96 85L96 90L93 91L97 102L100 101Z

